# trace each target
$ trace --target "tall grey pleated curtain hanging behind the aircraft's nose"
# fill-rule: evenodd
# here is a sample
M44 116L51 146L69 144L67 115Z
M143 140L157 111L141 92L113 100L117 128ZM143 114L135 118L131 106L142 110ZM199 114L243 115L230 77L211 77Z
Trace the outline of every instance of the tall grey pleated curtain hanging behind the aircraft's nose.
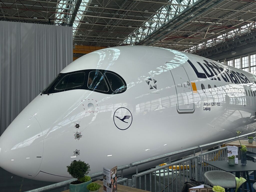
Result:
M72 27L0 21L0 135L72 58Z

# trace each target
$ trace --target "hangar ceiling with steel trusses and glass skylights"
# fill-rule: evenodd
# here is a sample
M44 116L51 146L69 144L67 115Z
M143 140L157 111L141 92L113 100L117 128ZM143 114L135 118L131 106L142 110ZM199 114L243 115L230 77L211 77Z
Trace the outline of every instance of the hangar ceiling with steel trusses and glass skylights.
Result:
M0 19L72 25L77 46L148 45L204 57L256 36L253 0L0 0Z

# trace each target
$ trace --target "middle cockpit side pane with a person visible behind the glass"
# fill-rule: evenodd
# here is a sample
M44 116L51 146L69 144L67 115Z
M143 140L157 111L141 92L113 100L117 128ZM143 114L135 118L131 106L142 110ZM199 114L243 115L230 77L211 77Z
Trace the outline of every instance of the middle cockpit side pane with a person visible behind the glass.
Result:
M90 89L95 89L95 90L104 91L104 92L109 91L106 81L102 73L99 71L91 71L89 73L87 86Z

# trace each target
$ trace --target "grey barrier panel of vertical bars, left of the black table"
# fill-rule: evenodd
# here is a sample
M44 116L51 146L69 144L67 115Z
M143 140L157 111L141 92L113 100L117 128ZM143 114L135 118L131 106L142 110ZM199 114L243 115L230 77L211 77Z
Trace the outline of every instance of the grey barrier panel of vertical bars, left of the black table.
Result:
M196 179L198 157L193 156L132 176L132 187L148 191L178 191L189 178ZM149 181L149 182L147 182Z

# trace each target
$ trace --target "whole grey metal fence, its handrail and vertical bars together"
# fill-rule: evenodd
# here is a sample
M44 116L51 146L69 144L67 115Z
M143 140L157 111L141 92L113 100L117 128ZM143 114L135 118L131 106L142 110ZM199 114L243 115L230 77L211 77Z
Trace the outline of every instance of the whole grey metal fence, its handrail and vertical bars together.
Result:
M244 134L239 136L239 138L243 138L255 133L256 131ZM232 137L226 140L208 143L205 145L195 146L188 149L153 157L150 159L145 159L143 161L119 166L118 171L121 171L121 177L118 179L118 184L144 189L152 192L181 191L184 183L186 181L189 181L189 179L204 181L204 173L208 170L214 170L213 167L205 163L206 161L227 160L227 147L220 147L220 145L234 140L237 140L237 137ZM216 150L202 153L202 150L212 146L219 147ZM196 154L196 152L200 152L200 150L201 153ZM248 151L256 153L256 149L253 148L248 148ZM172 156L187 152L190 152L190 154L192 154L193 156L175 162L171 161ZM156 166L155 168L151 168L150 170L144 170L140 173L138 172L138 170L140 169L140 165L166 158L168 158L169 161L165 164L162 164L162 166ZM132 179L123 178L123 170L131 167L136 167L136 174L132 175ZM90 176L92 179L103 177L103 172L89 174L88 176ZM69 183L74 180L76 179L55 183L26 192L45 192L63 187L64 190L66 190L67 186L69 186Z

